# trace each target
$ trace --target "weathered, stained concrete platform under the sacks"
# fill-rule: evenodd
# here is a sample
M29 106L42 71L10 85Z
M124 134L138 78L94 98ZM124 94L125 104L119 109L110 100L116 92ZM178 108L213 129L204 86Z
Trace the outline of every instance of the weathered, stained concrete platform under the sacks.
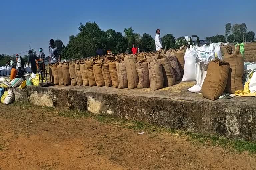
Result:
M157 91L112 87L52 86L13 89L15 100L65 110L88 111L178 130L256 140L256 98L211 101L187 91L195 82Z

